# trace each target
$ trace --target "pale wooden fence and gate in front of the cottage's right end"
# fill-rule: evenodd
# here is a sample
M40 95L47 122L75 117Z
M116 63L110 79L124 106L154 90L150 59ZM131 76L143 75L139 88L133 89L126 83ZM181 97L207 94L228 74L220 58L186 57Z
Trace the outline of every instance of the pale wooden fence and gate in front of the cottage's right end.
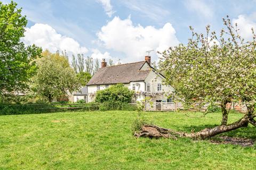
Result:
M145 103L145 111L177 111L183 110L182 103Z

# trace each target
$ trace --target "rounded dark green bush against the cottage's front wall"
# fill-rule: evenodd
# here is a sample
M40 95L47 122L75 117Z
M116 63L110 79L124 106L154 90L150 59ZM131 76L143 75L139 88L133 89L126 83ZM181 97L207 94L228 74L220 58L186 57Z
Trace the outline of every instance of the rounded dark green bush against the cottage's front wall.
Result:
M130 103L134 91L129 90L124 84L116 84L107 89L96 92L95 101L97 103Z

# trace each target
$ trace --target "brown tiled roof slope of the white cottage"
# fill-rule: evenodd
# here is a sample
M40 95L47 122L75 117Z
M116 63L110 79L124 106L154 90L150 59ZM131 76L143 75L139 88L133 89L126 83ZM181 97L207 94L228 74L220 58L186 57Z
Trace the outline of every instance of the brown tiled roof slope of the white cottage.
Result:
M92 79L87 83L87 85L143 81L150 72L150 70L140 70L144 63L145 61L102 67L93 75Z

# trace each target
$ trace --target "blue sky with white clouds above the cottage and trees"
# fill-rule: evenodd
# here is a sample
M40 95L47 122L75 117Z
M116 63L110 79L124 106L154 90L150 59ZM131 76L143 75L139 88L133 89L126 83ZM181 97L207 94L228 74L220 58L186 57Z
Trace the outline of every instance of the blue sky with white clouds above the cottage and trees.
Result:
M9 3L9 0L0 0ZM27 16L22 41L51 52L66 50L94 59L111 58L114 62L144 60L148 50L153 61L165 49L187 43L189 26L196 32L223 27L229 15L239 33L250 39L256 29L254 0L16 0Z

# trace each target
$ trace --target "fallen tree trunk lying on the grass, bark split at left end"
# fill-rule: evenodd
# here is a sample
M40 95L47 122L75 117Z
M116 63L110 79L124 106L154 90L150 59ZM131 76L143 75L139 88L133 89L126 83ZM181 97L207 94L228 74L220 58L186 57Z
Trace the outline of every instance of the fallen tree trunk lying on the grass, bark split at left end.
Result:
M171 129L161 128L155 125L143 125L139 133L134 133L136 137L147 137L147 138L173 138L187 137L193 139L206 139L214 137L217 134L236 130L238 128L247 127L249 124L249 118L241 118L235 123L229 125L220 125L214 128L206 128L202 131L195 133L183 133L174 131Z

